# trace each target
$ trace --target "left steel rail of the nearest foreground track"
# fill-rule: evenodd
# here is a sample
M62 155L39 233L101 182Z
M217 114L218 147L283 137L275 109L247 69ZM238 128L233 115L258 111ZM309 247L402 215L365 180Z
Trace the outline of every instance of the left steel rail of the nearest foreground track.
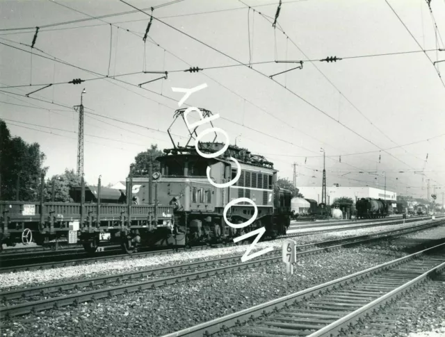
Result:
M350 283L353 283L354 281L357 281L359 279L364 279L383 270L394 268L398 265L401 265L402 263L407 263L412 259L419 257L422 254L425 254L426 252L432 252L432 250L438 248L444 249L445 243L436 245L434 247L430 247L428 249L423 249L420 252L416 252L408 256L403 256L401 258L397 258L396 260L389 261L387 263L382 263L381 265L376 265L375 267L371 267L366 270L362 270L360 272L355 272L354 274L350 274L346 277L341 277L333 281L328 281L318 286L298 291L297 293L286 295L278 299L273 299L266 303L259 304L257 306L252 306L248 309L244 309L236 313L225 315L222 318L217 318L209 322L197 324L193 327L182 329L181 331L175 331L171 334L166 334L162 337L181 337L181 336L202 337L202 336L210 336L211 334L215 334L217 332L227 332L229 328L240 327L241 324L243 324L243 322L253 322L255 318L265 316L271 312L277 312L279 309L289 308L289 305L291 304L296 304L304 299L315 298L317 295L321 295L325 293L327 290L338 289L341 288L342 286L346 286ZM294 335L296 334L298 334L298 331L295 331Z

